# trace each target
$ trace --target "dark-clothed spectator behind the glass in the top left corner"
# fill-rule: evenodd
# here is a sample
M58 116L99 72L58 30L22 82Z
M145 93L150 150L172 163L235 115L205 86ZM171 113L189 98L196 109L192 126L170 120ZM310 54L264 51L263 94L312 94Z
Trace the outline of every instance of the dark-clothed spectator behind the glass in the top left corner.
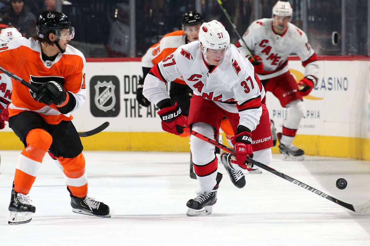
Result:
M17 28L23 37L30 38L36 34L36 17L26 6L26 0L11 0L11 6L1 9L3 18L9 19L11 26Z

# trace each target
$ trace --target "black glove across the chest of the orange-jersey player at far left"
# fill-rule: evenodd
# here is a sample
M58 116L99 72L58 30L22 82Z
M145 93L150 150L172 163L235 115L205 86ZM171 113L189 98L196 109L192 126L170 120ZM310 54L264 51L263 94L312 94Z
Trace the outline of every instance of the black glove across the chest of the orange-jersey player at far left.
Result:
M35 101L39 101L46 105L50 105L51 103L60 105L64 103L66 97L67 93L63 86L55 81L50 81L41 85L38 87L38 91L33 93L33 99Z

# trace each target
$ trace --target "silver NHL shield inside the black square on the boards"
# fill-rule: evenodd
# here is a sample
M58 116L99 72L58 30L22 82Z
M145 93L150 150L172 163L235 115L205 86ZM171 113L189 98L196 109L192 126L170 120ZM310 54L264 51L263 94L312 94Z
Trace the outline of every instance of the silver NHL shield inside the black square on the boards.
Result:
M95 85L95 105L104 112L111 110L116 102L115 86L110 82L99 82Z

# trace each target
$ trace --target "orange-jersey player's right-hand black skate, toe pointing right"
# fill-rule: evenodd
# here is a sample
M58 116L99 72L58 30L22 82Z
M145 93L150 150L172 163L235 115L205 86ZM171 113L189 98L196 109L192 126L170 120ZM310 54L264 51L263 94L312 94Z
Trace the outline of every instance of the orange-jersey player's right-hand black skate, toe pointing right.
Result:
M67 187L68 189L68 187ZM70 191L68 189L68 191ZM95 201L92 197L75 197L71 194L72 211L77 214L86 214L99 217L110 217L109 207L102 202Z

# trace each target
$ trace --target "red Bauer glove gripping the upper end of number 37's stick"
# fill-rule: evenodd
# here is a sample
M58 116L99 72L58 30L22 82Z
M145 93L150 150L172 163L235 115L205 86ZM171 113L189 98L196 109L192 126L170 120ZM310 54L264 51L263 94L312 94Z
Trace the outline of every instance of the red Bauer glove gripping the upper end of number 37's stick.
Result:
M182 127L189 127L185 116L181 114L181 108L176 102L171 107L162 108L157 114L161 117L163 131L180 135L184 132Z

